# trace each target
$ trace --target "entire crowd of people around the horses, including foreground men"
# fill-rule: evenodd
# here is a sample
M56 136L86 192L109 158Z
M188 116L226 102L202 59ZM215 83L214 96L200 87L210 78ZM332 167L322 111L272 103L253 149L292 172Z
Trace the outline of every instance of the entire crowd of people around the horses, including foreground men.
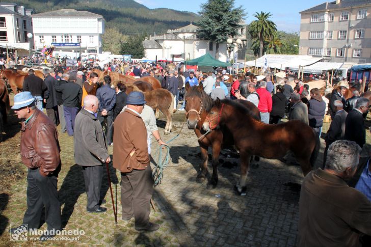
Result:
M322 168L309 173L302 186L299 238L303 244L300 245L345 241L353 246L359 232L371 234L371 170L368 161L366 165L360 163L362 167L354 183L355 189L342 181L354 176L359 163L357 155L366 141L364 115L368 113L370 103L367 98L360 97L359 90L353 90L353 97L345 100L345 88L338 87L327 99L318 88L309 91L308 85L297 77L293 88L289 77L283 78L283 84L275 84L271 75L254 76L249 72L243 77L233 75L233 82L228 83L225 69L204 74L200 70L184 70L179 64L166 69L161 64L121 61L113 61L103 68L98 64L92 66L137 78L157 78L162 87L172 93L174 111L178 105L179 111L184 110L184 86L188 83L191 87L202 84L205 93L213 99L252 102L259 109L263 123L279 124L285 118L302 121L312 127L317 139L321 138L325 115L331 115L332 122L325 135ZM48 230L61 229L57 193L61 148L56 129L60 125L62 133L73 136L75 161L82 166L84 174L87 211L107 211L101 207L104 203L100 195L101 178L103 164L111 162L108 146L115 142L113 166L121 172L122 219L127 221L134 217L135 228L139 231L157 230L159 226L149 221L149 201L153 193L149 164L151 138L153 136L159 145L166 143L158 133L152 109L145 105L144 94L132 92L127 95L126 87L120 81L113 89L110 76L105 76L102 83L94 72L87 78L82 67L79 70L72 68L69 72L44 69L44 80L35 76L32 69L29 74L24 81L24 92L14 97L13 106L18 118L25 119L21 129L21 157L29 168L29 189L23 223L38 228L36 222L39 222L41 210L45 207ZM240 81L240 78L244 80ZM357 89L357 85L353 85L354 88ZM183 103L179 104L179 101ZM47 116L42 113L43 108ZM338 187L328 188L329 183ZM332 201L327 201L327 194L331 194L333 189L336 191L331 195ZM347 197L342 197L340 190L348 191ZM343 198L352 204L343 206ZM324 208L324 211L321 215L312 215L317 207ZM354 216L344 219L347 212ZM318 224L323 225L319 228ZM344 234L340 234L340 230ZM341 241L336 239L336 231L344 236ZM316 235L314 240L313 237L309 240L313 235ZM51 236L44 236L44 239L48 237Z

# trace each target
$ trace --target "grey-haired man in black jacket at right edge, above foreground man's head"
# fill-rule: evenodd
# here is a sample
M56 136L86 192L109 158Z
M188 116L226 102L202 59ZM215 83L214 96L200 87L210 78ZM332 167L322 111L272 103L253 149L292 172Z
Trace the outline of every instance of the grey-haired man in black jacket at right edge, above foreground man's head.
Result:
M366 143L366 129L364 126L363 114L368 112L369 100L359 98L356 108L348 113L345 121L344 139L356 142L361 148Z

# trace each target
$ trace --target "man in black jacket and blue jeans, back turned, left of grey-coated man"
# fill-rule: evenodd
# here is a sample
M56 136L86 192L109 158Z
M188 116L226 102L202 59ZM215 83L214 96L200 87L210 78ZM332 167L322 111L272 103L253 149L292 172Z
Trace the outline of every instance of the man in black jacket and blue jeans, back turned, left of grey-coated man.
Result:
M66 121L67 133L73 136L75 127L75 118L80 110L81 100L83 98L83 90L81 87L72 81L69 81L70 75L64 73L62 78L68 83L56 87L58 92L62 93L64 119Z

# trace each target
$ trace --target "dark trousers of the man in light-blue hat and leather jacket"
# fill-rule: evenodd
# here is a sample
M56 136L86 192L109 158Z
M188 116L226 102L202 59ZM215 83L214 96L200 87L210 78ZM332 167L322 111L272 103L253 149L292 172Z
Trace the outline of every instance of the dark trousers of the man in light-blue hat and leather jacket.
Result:
M61 230L61 204L58 198L58 178L56 176L41 176L39 169L29 169L27 175L27 210L24 213L23 224L29 229L38 229L41 222L41 212L45 208L45 222L48 230Z

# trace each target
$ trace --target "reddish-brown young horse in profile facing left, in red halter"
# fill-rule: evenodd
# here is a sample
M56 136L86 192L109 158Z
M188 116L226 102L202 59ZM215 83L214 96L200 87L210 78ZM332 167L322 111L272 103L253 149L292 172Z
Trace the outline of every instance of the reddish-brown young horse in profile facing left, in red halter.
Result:
M251 155L278 159L290 150L299 161L304 176L312 170L318 138L311 127L299 120L274 125L264 124L252 118L241 104L218 98L202 127L204 130L214 131L220 126L229 129L235 146L240 150L241 176L239 184L235 186L240 195L246 195L246 178Z

